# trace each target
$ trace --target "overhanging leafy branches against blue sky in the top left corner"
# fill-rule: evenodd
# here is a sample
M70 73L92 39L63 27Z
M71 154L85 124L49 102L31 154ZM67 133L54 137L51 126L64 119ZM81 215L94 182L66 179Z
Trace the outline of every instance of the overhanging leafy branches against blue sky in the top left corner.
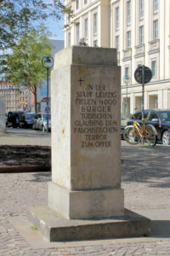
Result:
M72 14L62 0L0 0L0 50L1 55L11 49L25 35L35 20L54 17L56 22L61 13Z

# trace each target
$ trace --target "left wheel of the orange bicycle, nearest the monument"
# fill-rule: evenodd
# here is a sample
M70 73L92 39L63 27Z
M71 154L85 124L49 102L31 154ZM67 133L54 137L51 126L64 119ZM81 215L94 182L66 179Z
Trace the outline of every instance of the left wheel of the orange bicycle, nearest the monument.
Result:
M129 144L138 144L141 141L138 131L133 128L133 125L125 127L123 132L125 141Z

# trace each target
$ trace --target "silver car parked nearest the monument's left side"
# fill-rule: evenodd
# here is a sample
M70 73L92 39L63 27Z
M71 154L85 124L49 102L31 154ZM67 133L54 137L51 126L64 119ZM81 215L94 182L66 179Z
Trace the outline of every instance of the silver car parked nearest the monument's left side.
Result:
M37 113L33 119L32 129L47 131L47 117L48 117L48 131L51 131L51 113Z

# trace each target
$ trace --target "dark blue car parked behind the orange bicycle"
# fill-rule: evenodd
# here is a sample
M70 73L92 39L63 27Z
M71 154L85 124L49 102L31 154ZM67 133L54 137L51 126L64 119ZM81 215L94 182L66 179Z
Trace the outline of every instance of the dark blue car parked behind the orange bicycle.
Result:
M154 125L157 131L157 142L163 145L170 145L170 110L146 109L144 110L145 124ZM137 111L131 119L128 119L127 125L133 125L133 119L141 123L142 111Z

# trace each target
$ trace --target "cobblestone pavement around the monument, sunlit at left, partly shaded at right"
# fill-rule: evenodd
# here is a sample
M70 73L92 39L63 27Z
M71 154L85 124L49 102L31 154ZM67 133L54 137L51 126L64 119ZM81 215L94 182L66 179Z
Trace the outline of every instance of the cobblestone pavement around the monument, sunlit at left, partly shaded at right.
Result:
M170 208L170 148L122 147L122 188L128 209ZM0 256L10 255L170 255L170 239L101 241L98 245L35 249L8 217L26 216L28 207L48 204L50 173L0 174Z

